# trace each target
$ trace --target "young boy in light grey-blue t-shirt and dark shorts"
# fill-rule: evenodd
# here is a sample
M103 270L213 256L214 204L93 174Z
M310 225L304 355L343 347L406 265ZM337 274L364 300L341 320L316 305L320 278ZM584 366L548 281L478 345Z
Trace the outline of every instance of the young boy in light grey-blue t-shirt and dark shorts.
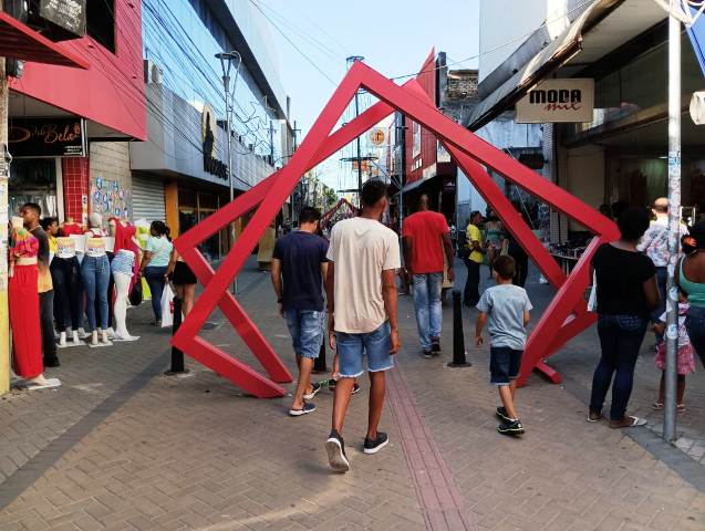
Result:
M496 412L501 420L497 431L521 435L523 426L515 410L514 397L532 306L526 290L511 283L516 269L514 258L499 257L493 267L497 285L486 290L477 303L480 313L475 326L475 344L480 346L484 343L483 329L488 324L489 381L497 386L502 403Z

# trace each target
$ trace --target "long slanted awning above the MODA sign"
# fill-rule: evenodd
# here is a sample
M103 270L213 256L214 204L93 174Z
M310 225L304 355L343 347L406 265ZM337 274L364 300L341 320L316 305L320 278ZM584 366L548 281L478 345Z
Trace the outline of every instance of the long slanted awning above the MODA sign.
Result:
M561 66L598 61L664 18L654 2L594 0L562 34L475 107L467 128L477 131L491 122Z

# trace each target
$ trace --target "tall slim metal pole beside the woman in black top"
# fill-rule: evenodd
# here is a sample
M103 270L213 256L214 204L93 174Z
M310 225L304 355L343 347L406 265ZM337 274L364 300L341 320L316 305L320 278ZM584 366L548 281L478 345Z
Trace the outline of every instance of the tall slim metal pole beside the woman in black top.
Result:
M663 439L675 440L678 300L674 283L681 225L681 22L672 13L678 8L671 0L668 14L668 283L666 289L666 371L663 415Z

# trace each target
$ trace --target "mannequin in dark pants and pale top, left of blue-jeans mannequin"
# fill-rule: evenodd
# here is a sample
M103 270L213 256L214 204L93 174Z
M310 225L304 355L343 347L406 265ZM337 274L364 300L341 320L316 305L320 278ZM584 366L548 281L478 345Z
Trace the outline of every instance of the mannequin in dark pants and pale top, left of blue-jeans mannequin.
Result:
M81 266L76 258L75 240L68 237L56 238L56 253L51 261L51 275L54 282L54 313L59 329L59 347L82 345L79 339L81 325ZM71 337L71 343L66 343Z

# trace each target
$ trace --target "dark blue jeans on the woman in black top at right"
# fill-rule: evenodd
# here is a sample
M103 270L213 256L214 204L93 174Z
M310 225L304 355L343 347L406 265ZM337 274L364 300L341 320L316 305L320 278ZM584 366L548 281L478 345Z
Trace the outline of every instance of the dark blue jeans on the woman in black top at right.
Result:
M612 384L610 419L621 420L626 412L634 383L634 365L646 334L647 320L639 315L600 315L598 333L602 356L592 377L590 410L602 413ZM612 382L614 375L614 382Z

